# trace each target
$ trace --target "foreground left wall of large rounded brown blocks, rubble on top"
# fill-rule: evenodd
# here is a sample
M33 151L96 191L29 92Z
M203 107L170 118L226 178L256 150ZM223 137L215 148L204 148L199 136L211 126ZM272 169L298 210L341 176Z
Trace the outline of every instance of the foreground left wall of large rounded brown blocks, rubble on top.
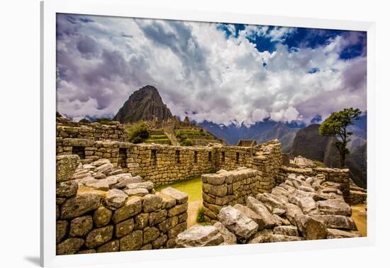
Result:
M187 225L186 194L172 188L155 193L150 182L129 174L80 181L74 179L79 168L77 155L57 157L57 255L176 246ZM84 186L91 180L94 188ZM98 186L103 181L106 191Z

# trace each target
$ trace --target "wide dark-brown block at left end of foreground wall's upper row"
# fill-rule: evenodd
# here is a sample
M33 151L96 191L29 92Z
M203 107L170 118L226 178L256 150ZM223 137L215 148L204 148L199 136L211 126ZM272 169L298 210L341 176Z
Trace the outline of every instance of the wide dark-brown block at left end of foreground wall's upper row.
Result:
M100 194L83 193L67 199L61 206L61 218L70 219L82 216L89 211L94 211L99 207Z

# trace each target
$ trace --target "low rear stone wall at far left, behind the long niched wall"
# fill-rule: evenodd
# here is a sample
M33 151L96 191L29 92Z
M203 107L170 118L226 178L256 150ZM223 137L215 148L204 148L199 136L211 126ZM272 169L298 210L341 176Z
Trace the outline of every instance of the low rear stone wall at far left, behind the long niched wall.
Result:
M64 121L64 122L62 122ZM65 119L57 119L57 137L78 138L89 140L116 140L127 141L124 125L119 122L110 122L107 125L100 123L75 123Z

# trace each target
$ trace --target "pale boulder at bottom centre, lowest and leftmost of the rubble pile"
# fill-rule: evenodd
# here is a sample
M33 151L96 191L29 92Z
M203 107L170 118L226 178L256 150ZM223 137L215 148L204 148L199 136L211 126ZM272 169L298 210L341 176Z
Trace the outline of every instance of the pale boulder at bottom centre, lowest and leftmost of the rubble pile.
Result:
M177 247L206 247L220 245L224 242L223 236L212 225L194 225L176 238Z

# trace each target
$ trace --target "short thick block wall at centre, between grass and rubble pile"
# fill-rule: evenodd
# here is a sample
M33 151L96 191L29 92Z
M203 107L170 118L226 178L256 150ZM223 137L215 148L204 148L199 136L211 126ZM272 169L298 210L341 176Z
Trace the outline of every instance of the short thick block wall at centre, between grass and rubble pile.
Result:
M245 167L218 174L202 175L202 196L205 221L215 221L221 208L245 203L247 196L256 196L260 172Z

